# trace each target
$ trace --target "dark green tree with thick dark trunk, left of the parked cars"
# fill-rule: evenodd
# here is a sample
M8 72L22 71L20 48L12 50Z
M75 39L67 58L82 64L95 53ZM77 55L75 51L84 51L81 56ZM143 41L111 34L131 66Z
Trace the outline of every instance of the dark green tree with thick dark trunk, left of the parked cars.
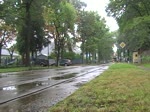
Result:
M20 18L18 18L17 46L26 66L30 66L30 52L40 51L44 44L42 3L39 0L20 2L22 11L20 11Z

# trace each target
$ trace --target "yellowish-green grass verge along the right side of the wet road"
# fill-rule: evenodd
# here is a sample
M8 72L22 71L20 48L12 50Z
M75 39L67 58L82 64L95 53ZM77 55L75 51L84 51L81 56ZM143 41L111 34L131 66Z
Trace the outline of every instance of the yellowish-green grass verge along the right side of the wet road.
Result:
M150 72L113 64L49 112L150 112Z

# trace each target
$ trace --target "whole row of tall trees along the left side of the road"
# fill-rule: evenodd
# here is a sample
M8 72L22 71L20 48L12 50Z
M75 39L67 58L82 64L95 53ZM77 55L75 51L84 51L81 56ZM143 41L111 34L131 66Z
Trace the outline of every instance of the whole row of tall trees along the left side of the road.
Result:
M86 4L80 0L2 0L0 6L0 56L2 46L15 38L26 66L51 40L57 65L65 52L74 52L78 42L87 63L106 60L112 53L105 20L96 12L84 11Z

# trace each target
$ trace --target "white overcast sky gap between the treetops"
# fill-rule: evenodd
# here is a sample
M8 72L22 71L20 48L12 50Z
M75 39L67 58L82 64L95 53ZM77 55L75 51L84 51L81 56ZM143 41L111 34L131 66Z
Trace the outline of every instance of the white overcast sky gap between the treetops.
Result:
M117 22L114 18L108 17L105 12L105 7L109 3L109 0L81 0L87 4L85 10L97 11L101 17L104 17L106 20L107 26L111 31L115 31L118 29Z

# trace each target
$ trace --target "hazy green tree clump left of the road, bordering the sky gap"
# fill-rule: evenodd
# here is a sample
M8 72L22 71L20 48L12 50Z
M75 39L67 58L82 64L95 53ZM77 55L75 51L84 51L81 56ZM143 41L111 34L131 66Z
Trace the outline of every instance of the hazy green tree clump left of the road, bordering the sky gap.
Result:
M82 42L82 54L86 55L86 60L108 60L112 55L113 39L106 27L106 22L97 12L83 11L79 24L80 40ZM96 57L98 54L98 57ZM84 55L83 55L84 56ZM82 57L83 58L83 57ZM89 62L88 62L89 63Z

